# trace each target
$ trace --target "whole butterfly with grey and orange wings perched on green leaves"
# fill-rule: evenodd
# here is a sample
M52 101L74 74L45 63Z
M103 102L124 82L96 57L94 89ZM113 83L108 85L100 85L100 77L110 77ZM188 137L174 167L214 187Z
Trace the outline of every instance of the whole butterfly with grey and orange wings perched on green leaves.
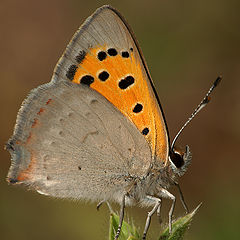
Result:
M171 232L176 198L168 189L179 187L177 179L191 161L188 146L180 151L170 145L141 49L122 15L108 5L75 33L51 81L25 99L6 148L9 183L57 198L118 202L115 239L125 206L135 204L153 207L146 239L162 198L172 201Z

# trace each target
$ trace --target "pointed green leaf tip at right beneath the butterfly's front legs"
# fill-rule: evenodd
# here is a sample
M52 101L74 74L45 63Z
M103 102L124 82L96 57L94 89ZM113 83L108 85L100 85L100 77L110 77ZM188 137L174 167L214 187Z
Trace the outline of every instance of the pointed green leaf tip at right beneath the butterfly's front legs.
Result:
M201 204L199 204L191 213L174 221L171 234L169 234L169 228L167 227L162 232L159 240L182 240L186 230L192 222L193 216L196 214L200 206Z

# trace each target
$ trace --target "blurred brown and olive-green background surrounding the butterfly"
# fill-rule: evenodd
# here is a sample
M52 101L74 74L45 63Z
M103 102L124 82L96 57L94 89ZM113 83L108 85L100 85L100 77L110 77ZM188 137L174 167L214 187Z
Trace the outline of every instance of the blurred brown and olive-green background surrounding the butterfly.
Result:
M180 183L190 209L203 202L186 239L240 239L239 0L1 0L0 239L107 239L105 205L97 212L95 203L57 200L9 186L10 155L3 150L22 100L50 81L79 25L106 3L125 16L139 40L171 139L217 75L223 75L212 102L179 139L193 153ZM169 201L163 205L166 222ZM147 211L127 208L126 219L142 230ZM183 214L178 199L175 217ZM160 230L154 216L149 239L156 239Z

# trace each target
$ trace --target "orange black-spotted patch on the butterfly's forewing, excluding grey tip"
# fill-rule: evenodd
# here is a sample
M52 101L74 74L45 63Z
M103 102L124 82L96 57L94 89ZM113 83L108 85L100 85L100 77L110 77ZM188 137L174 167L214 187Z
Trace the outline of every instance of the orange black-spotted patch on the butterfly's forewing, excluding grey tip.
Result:
M89 85L110 101L144 135L152 155L165 161L165 123L133 48L122 52L106 46L91 48L87 54L81 51L76 60L79 64L70 66L66 76Z

